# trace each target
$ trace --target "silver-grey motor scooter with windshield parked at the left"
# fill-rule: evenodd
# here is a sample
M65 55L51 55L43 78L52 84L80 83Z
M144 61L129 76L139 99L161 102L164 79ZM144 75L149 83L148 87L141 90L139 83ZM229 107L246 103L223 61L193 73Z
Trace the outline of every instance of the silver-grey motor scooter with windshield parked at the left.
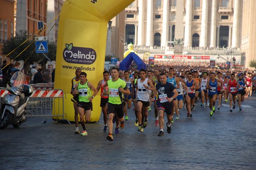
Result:
M29 96L32 95L33 87L25 84L26 75L23 72L15 72L7 84L5 94L1 100L0 108L0 130L5 129L12 124L18 128L26 121L24 114Z

